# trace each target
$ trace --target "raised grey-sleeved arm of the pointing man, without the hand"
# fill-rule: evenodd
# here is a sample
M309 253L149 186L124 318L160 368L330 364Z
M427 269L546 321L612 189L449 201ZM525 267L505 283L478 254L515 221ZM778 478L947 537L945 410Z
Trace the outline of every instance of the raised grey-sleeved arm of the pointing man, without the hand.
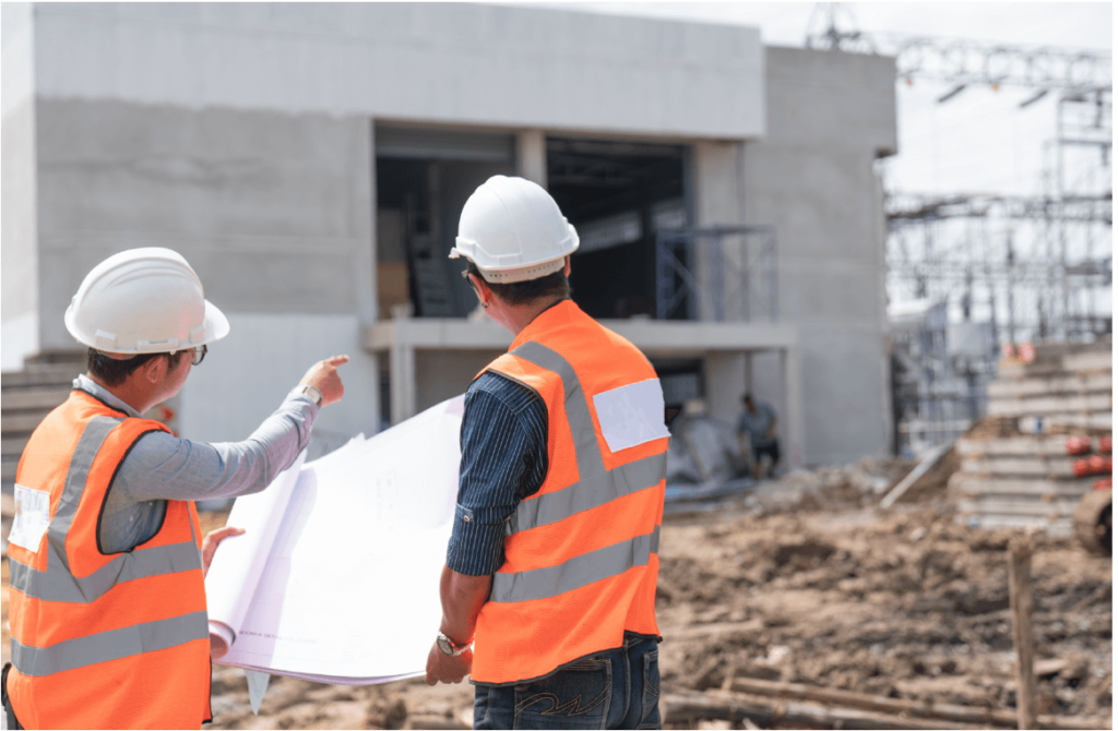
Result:
M310 443L319 407L288 397L244 442L205 444L152 433L121 465L114 490L132 500L212 500L259 492Z

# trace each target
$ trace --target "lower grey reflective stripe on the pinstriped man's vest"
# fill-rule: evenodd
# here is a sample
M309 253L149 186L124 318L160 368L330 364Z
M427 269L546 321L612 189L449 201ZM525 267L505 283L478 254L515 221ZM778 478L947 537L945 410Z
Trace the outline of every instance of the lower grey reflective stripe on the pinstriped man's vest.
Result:
M625 573L635 566L647 566L660 550L660 526L652 533L576 556L559 566L518 573L493 575L490 601L531 601L556 597L567 591Z

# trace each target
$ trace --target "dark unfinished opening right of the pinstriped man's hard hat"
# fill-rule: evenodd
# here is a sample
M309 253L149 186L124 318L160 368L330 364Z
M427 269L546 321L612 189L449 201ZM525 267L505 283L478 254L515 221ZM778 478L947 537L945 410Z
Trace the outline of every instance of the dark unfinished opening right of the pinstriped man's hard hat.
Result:
M656 231L690 218L686 149L565 137L548 137L547 149L548 192L581 241L571 260L575 302L599 319L655 316Z

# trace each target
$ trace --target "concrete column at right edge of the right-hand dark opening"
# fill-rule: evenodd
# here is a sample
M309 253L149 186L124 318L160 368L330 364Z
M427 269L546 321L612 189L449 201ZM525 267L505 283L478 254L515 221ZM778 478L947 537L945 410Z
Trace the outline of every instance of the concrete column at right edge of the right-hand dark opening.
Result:
M703 141L694 145L694 211L695 225L739 226L745 220L742 210L742 145L741 142ZM727 241L724 253L735 254L732 241ZM704 293L699 298L700 320L714 320L718 313L727 319L739 319L737 313L727 312L727 294L740 296L739 284L726 277L726 267L711 262L711 247L720 246L714 240L698 243L695 267L700 288ZM743 262L736 263L740 267ZM718 282L716 282L718 277ZM714 286L714 285L719 286ZM722 302L712 302L709 293L721 291ZM731 297L732 298L732 297Z

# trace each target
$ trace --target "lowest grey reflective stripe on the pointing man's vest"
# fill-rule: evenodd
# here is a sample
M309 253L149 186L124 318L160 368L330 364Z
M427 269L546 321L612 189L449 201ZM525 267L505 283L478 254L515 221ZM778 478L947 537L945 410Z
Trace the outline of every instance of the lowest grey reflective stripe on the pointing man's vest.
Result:
M11 662L23 675L38 677L177 647L206 637L209 637L206 613L192 611L170 619L76 637L49 647L21 645L12 639Z

